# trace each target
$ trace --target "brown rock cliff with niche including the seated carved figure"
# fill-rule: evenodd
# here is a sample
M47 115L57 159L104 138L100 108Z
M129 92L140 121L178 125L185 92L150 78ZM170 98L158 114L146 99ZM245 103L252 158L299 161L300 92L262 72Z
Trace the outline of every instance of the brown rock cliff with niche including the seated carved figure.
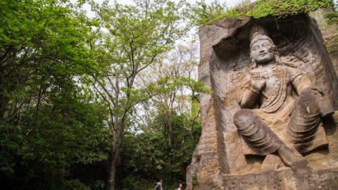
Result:
M338 63L324 13L200 28L199 81L213 93L200 94L187 189L337 189Z

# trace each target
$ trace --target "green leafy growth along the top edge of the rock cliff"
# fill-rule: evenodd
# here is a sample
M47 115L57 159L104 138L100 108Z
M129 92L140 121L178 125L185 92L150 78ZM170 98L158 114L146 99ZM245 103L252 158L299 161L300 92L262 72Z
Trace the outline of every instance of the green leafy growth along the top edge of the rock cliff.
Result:
M275 17L286 17L294 15L300 11L315 11L317 8L326 8L332 6L332 0L258 0L242 1L234 8L226 8L225 4L219 1L213 1L212 4L206 4L206 1L197 1L196 5L191 7L192 15L190 20L192 25L203 26L214 23L222 18L263 18L268 15Z

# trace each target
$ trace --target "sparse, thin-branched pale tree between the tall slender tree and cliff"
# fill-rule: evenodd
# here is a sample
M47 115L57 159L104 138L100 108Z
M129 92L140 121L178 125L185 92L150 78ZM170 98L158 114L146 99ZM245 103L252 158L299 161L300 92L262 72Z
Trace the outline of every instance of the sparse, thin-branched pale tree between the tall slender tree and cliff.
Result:
M168 146L172 146L172 131L173 131L173 117L176 114L184 115L187 122L194 122L199 116L197 113L192 113L192 101L197 101L196 91L202 89L202 84L195 82L196 70L198 64L198 47L194 42L187 44L179 44L177 48L170 53L163 56L161 62L158 62L138 77L138 85L146 86L149 82L165 80L162 87L173 83L174 85L168 91L163 91L160 94L152 96L149 101L142 103L143 106L139 113L139 121L142 121L146 126L151 125L154 120L154 115L161 113L163 115L163 134L168 139ZM184 84L184 85L182 85ZM187 115L187 113L192 113ZM184 124L187 124L184 122ZM183 129L191 131L193 125L184 126Z

